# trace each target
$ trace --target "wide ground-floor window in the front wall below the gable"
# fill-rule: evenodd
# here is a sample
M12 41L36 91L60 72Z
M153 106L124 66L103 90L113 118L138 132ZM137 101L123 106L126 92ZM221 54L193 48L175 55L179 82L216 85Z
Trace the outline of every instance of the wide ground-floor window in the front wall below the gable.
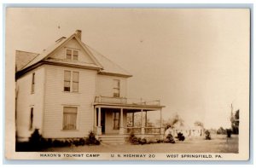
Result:
M77 129L77 107L64 107L63 108L63 130L76 130Z

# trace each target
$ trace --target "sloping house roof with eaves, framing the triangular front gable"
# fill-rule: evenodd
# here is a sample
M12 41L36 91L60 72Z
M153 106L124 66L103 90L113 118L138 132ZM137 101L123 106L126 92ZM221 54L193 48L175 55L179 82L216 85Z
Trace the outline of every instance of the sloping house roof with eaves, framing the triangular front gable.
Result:
M117 64L113 63L113 61L110 61L105 56L96 52L95 49L91 49L88 45L83 43L77 37L76 33L73 33L73 35L71 35L69 38L65 38L65 37L59 38L48 49L44 49L44 51L40 55L36 54L36 53L32 53L33 55L27 54L27 55L29 55L28 58L23 59L23 60L21 59L22 63L20 63L20 59L19 60L16 59L17 67L19 65L19 69L17 68L17 71L25 70L26 68L32 67L33 65L36 65L41 61L47 61L47 62L57 61L54 59L47 60L47 58L49 57L49 55L51 53L54 53L56 49L60 49L65 43L67 43L68 41L70 41L73 38L75 38L78 41L78 43L83 47L83 49L88 53L90 58L96 64L92 65L92 64L86 64L86 63L81 64L80 62L61 61L62 63L70 64L70 65L85 66L85 67L96 67L99 69L99 73L102 73L102 74L131 77L131 74L129 72L126 72L125 69L119 67ZM20 56L18 56L18 57L20 57ZM58 60L58 62L60 62L60 60Z

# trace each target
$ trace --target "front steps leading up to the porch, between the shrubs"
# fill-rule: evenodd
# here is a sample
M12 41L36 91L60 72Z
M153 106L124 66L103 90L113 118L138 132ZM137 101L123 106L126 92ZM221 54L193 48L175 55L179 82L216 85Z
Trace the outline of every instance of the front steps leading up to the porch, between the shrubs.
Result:
M99 136L99 140L106 144L124 144L126 136Z

